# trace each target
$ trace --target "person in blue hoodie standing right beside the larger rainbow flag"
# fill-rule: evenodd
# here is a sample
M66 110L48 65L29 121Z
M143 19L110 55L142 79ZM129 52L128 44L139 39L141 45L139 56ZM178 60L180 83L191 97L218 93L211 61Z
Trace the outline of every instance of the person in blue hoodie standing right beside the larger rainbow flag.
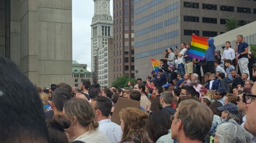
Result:
M214 45L214 39L210 37L208 40L208 48L205 52L204 58L207 63L207 72L215 73L214 69L214 61L215 61L215 45Z

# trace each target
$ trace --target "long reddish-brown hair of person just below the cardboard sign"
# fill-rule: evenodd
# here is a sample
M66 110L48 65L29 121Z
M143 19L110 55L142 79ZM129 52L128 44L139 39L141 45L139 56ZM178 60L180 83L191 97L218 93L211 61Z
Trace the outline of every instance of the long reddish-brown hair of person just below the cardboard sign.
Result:
M120 142L134 141L134 137L139 138L140 142L150 142L145 130L148 113L139 108L123 108L119 112L119 117L123 120L124 129Z

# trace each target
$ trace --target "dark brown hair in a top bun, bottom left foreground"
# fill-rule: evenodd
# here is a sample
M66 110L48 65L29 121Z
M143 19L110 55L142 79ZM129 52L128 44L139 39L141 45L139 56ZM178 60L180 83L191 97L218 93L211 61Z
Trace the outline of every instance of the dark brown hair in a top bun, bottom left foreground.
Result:
M49 143L51 142L61 142L68 143L68 137L65 134L64 129L68 129L71 125L70 121L61 116L55 115L53 119L46 121L48 132L49 132Z

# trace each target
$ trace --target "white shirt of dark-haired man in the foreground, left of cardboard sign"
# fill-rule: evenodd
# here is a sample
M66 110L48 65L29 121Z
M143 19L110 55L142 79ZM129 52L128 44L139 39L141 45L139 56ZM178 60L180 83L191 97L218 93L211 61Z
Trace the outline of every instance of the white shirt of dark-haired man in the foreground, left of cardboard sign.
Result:
M121 126L117 125L114 122L111 122L110 119L105 119L99 121L99 130L105 134L112 143L120 142L122 138L122 129Z

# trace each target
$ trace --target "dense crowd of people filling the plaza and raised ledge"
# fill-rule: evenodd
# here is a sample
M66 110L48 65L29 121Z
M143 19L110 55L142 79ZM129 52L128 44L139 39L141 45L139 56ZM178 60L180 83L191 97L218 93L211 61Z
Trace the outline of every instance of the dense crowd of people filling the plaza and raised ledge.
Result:
M124 90L100 88L89 79L80 87L61 82L41 89L0 56L0 140L256 142L256 65L245 66L248 44L241 35L237 39L234 50L226 42L222 58L212 38L205 60L188 56L189 43L176 49L177 56L169 48L157 74L152 71L135 85L129 81ZM140 105L120 109L118 125L111 118L120 98Z

